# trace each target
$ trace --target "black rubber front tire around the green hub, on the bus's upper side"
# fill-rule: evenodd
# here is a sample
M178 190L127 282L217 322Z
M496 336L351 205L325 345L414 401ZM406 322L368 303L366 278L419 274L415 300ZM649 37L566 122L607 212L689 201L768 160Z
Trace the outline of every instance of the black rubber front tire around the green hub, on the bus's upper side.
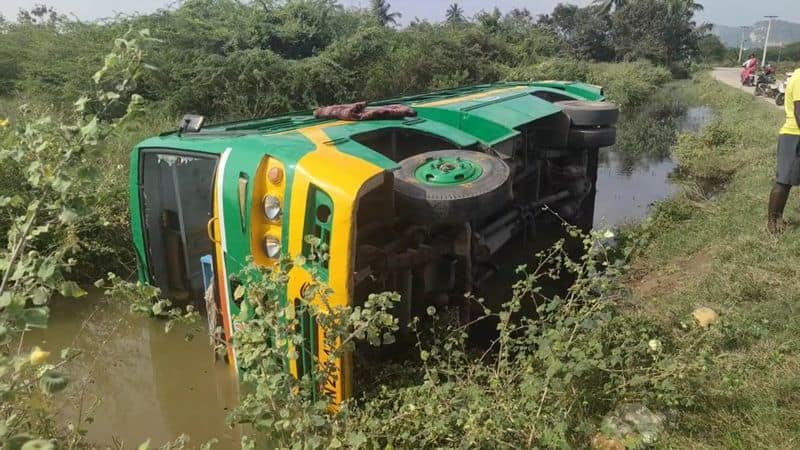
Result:
M464 182L437 184L424 181L418 169L437 161L460 158L480 167L477 178ZM400 161L394 172L398 211L415 223L461 223L486 218L512 199L511 170L500 158L468 150L425 152Z

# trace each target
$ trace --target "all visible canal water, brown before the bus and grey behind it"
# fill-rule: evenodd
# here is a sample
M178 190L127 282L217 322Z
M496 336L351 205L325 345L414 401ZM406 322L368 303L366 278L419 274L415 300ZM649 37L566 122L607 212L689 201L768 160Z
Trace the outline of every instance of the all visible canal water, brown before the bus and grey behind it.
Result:
M709 117L707 108L690 108L671 126L697 131ZM670 182L674 168L665 152L637 152L632 157L615 148L603 149L596 227L646 217L653 202L675 192ZM49 328L29 332L24 344L53 355L67 347L83 351L68 366L72 382L61 414L73 422L91 417L88 438L98 447L135 448L147 439L155 446L182 433L193 445L215 438L215 448L237 447L239 431L225 426L237 399L229 368L214 360L203 336L187 341L184 330L165 334L163 327L163 321L131 314L124 305L92 292L83 299L54 301Z

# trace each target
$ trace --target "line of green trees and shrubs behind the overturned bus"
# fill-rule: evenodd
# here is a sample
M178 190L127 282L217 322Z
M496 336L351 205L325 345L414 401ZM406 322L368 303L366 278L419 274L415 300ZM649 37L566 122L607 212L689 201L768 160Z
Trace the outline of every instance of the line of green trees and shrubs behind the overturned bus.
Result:
M398 27L401 15L386 0L360 9L335 0L189 0L96 22L39 6L0 21L0 96L73 98L89 87L103 49L128 29L159 39L145 97L175 113L216 117L497 81L549 59L677 67L700 55L708 31L695 21L700 8L691 0L617 0L559 4L539 16L494 8L467 17L453 3L443 22Z

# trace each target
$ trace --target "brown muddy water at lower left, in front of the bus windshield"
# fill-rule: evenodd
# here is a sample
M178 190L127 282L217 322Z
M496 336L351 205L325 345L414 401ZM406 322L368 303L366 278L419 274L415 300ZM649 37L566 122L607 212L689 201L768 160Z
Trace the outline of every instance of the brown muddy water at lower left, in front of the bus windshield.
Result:
M93 417L88 438L98 446L116 440L136 448L147 439L160 445L186 433L193 444L217 438L215 448L234 448L240 438L225 426L236 402L232 373L214 361L207 339L187 342L185 331L165 334L163 321L131 314L92 292L54 300L49 328L29 332L24 342L53 355L81 349L67 366L71 383L61 413L77 422L81 407L90 411L83 413Z

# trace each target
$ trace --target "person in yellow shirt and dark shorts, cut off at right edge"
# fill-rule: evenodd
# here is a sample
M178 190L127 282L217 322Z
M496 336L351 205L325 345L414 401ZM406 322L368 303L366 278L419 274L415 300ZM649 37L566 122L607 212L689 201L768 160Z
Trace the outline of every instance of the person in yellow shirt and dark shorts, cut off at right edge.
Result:
M800 185L800 69L786 85L786 123L778 136L778 170L769 195L767 229L777 233L783 228L783 209L792 186Z

